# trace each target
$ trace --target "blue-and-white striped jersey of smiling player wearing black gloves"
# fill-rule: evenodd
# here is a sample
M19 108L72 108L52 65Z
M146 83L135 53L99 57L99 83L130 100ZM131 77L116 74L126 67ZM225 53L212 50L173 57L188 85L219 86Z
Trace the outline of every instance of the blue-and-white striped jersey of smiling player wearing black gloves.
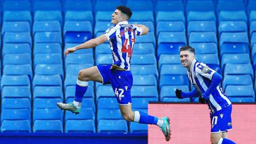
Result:
M213 69L209 68L205 63L201 61L194 61L191 64L190 70L188 71L188 77L198 91L198 93L203 94L211 84L212 75L215 73ZM227 94L222 91L222 88L217 86L206 103L211 111L214 113L219 111L231 104L227 97Z

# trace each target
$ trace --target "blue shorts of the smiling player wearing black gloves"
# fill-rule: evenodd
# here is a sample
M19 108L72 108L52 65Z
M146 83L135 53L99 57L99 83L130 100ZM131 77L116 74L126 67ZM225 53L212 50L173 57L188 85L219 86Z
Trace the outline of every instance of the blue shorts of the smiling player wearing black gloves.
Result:
M225 109L211 114L211 133L227 132L232 129L231 111L232 105L229 105Z

